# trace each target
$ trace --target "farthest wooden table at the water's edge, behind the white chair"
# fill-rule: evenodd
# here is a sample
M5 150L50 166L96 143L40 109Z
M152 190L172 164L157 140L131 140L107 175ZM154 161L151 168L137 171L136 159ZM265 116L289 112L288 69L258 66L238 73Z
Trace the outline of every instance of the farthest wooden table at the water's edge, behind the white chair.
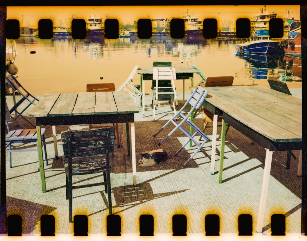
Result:
M145 80L152 80L153 79L153 66L150 67L139 67L138 74L141 75L141 90L142 90L142 97L141 97L141 104L143 107L143 117L145 116ZM185 100L185 80L191 80L191 86L194 84L193 74L198 73L199 71L188 66L172 66L176 70L176 80L183 81L183 102Z

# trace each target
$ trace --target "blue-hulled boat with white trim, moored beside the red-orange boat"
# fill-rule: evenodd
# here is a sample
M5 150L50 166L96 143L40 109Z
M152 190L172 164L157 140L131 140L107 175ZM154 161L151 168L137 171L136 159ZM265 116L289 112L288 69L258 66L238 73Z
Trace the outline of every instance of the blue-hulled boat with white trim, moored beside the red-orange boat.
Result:
M241 52L253 54L271 54L282 52L280 42L270 39L268 29L256 30L245 43L236 44L236 48Z

